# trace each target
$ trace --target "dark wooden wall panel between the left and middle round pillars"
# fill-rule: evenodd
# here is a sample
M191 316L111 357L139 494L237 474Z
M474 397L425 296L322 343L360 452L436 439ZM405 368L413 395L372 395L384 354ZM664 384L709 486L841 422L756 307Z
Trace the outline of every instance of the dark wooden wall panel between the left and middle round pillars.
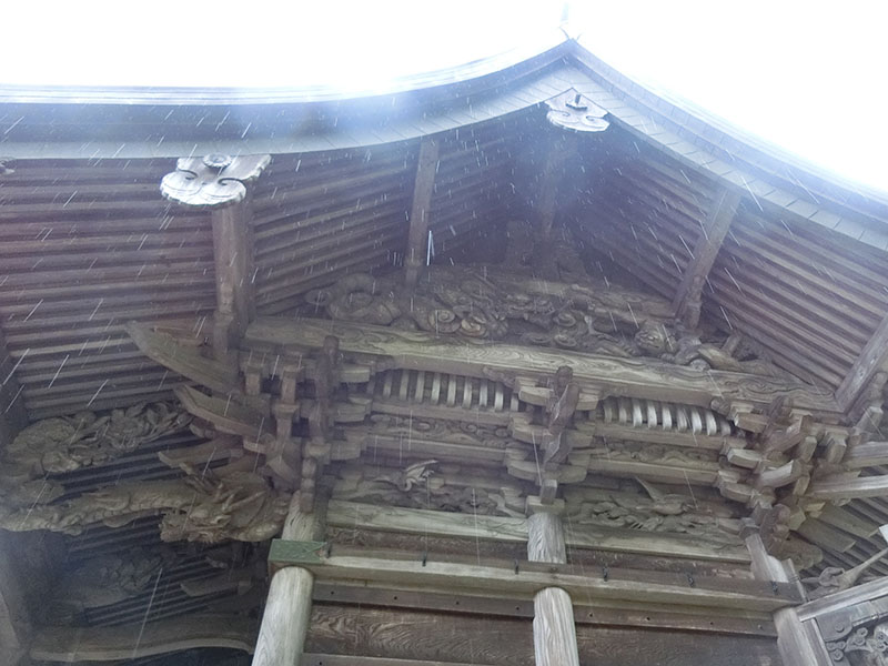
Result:
M316 604L306 652L533 666L532 640L524 619Z

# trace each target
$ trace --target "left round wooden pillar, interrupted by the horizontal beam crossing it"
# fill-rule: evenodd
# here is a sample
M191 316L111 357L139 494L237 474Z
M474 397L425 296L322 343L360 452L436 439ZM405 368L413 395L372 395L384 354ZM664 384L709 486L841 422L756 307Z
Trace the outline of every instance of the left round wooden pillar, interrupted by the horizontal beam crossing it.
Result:
M314 541L322 536L325 508L326 503L316 498L314 511L306 513L301 508L300 493L293 493L281 538ZM253 666L299 666L309 633L313 588L314 575L301 566L284 567L272 576Z

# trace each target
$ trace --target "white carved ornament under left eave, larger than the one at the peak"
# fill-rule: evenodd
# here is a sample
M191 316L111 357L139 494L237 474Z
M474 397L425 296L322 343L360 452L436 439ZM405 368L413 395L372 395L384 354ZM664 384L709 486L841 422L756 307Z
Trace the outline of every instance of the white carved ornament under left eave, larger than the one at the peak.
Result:
M238 203L246 196L246 183L258 179L269 162L271 155L180 158L175 171L163 176L160 190L167 199L185 205Z

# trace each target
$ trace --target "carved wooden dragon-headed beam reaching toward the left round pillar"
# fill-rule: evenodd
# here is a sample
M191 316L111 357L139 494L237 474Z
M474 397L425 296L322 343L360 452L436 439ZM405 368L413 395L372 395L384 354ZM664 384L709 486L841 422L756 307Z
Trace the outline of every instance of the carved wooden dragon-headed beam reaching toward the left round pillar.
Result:
M251 460L242 458L244 463ZM120 484L52 505L0 507L0 527L80 534L89 525L119 527L161 513L163 541L256 542L280 532L289 495L271 488L261 476L236 466L220 475L183 467L184 480Z

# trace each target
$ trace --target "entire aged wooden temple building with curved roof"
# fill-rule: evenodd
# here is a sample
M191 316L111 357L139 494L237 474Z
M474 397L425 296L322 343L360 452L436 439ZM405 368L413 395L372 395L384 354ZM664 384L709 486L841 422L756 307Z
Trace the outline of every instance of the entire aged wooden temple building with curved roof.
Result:
M888 664L884 196L572 40L229 92L0 90L0 664Z

